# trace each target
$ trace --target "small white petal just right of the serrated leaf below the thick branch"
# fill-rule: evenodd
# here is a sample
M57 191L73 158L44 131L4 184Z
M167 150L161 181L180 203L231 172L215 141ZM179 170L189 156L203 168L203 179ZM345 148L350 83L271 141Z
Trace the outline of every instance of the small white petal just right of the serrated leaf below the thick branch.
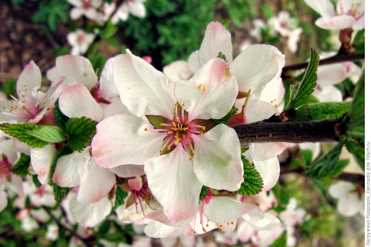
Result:
M263 178L263 191L273 188L278 181L280 171L277 156L263 161L254 161L254 166Z

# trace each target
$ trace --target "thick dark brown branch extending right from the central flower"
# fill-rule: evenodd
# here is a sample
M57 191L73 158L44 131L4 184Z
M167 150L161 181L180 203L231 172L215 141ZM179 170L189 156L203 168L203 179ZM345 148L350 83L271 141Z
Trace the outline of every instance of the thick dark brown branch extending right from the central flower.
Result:
M339 141L335 125L341 119L267 123L263 121L233 126L241 146L265 142L334 142Z

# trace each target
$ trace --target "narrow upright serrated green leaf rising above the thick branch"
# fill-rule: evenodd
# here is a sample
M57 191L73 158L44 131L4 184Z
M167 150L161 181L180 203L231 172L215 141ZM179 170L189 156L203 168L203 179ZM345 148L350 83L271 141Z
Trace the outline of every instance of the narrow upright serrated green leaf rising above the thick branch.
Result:
M317 66L319 62L319 55L316 50L311 49L311 61L306 68L303 80L301 81L298 91L295 96L290 99L286 109L296 108L304 104L311 93L313 93L314 87L317 84Z

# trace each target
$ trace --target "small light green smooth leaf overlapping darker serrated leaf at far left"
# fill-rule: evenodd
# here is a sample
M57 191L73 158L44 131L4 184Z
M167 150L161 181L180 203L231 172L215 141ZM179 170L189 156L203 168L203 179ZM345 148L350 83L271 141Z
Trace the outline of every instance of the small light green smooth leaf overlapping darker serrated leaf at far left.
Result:
M26 134L47 141L48 143L56 143L64 140L63 131L58 127L50 125L37 126L33 130L26 131Z

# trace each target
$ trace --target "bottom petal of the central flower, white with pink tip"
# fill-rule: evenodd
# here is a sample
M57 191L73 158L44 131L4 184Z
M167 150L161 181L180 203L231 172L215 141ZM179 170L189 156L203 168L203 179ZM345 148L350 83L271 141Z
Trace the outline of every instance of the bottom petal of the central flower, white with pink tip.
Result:
M194 217L202 184L181 145L145 164L144 171L148 187L170 220L180 222Z

